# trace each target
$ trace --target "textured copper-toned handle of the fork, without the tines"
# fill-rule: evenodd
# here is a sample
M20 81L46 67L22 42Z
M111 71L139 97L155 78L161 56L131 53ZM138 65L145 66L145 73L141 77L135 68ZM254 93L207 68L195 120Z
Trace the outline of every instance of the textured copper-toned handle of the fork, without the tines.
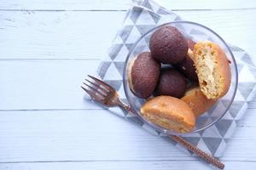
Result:
M127 105L122 101L119 101L119 106L125 109L125 111L128 111L129 113L131 113L132 115L137 116L137 113L131 108L130 105ZM222 162L218 161L218 159L216 159L215 157L210 156L203 150L200 150L195 145L190 144L187 140L183 139L182 137L179 137L177 135L170 135L169 137L172 140L176 141L178 144L182 144L185 148L192 151L196 156L201 157L201 159L211 163L212 165L220 169L224 169L224 164Z

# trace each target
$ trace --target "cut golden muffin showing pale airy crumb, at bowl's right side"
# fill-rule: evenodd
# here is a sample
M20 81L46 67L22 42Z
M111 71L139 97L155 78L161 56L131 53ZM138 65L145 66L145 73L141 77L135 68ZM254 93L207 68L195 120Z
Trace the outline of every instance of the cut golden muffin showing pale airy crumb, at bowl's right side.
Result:
M218 44L197 42L193 57L201 92L207 99L218 99L230 88L231 71L227 56Z

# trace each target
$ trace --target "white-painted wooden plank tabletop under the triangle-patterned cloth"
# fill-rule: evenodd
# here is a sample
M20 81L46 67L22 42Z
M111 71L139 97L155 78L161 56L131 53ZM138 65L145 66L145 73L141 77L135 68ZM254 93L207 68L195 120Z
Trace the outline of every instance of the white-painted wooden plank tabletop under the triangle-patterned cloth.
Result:
M255 56L255 0L158 0ZM130 0L0 0L0 169L211 169L84 99ZM254 60L254 61L255 61ZM224 156L256 169L256 99Z

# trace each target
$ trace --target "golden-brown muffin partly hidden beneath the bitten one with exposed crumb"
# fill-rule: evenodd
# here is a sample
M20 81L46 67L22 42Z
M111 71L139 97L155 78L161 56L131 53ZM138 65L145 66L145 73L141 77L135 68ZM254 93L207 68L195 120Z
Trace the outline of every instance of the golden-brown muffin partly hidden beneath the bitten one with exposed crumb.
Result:
M182 100L189 105L195 117L201 116L216 102L215 99L207 99L207 97L201 93L200 87L190 88L183 96Z

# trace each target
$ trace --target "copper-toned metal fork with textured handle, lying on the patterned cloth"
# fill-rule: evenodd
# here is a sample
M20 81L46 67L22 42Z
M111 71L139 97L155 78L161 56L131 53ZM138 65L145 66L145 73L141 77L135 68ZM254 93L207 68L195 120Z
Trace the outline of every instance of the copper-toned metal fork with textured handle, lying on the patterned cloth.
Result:
M119 106L125 111L128 111L132 115L137 115L135 111L133 111L130 107L130 105L126 105L120 98L119 94L117 93L116 89L108 85L106 82L102 82L101 80L97 79L96 77L92 77L88 75L90 79L86 79L86 82L84 83L84 86L81 86L81 88L84 89L84 91L90 95L91 99L96 100L102 105L106 105L108 107L113 106ZM190 144L188 141L183 139L182 137L179 137L177 135L170 135L169 136L172 140L176 141L178 144L182 144L185 148L192 151L195 155L201 157L203 160L212 163L212 165L224 169L224 164L218 159L216 159L213 156L208 155L206 152L200 150L195 145Z

